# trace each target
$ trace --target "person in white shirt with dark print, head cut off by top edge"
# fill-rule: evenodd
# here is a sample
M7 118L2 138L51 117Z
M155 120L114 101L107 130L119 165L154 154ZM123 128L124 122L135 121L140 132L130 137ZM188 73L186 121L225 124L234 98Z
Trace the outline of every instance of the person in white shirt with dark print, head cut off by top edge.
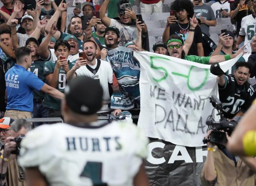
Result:
M228 0L220 0L211 5L215 18L228 18L230 3Z

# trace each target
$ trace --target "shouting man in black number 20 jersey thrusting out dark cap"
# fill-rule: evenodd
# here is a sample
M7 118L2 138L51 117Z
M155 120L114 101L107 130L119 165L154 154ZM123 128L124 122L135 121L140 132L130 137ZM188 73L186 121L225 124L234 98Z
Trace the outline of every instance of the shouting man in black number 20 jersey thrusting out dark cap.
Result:
M224 117L232 119L234 116L243 116L255 98L254 88L247 82L250 77L248 63L236 63L234 74L224 75L218 63L212 64L210 71L218 76L218 89Z

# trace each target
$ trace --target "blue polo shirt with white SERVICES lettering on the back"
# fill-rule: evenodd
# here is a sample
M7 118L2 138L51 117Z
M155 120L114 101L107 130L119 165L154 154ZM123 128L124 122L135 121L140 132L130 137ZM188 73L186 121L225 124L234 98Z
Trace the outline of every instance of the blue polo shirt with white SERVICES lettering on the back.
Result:
M32 112L33 90L41 90L44 82L17 64L6 72L5 81L8 95L6 110Z

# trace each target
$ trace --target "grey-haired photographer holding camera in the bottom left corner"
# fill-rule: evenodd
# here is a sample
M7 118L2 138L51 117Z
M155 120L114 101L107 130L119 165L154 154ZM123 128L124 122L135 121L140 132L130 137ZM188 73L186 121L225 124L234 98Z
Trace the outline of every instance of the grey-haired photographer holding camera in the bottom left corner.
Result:
M25 135L31 130L31 123L25 119L16 119L12 122L11 127L5 130L10 137L6 138L4 148L0 152L0 185L21 186L24 185L25 172L17 163L19 143L22 139L20 135Z

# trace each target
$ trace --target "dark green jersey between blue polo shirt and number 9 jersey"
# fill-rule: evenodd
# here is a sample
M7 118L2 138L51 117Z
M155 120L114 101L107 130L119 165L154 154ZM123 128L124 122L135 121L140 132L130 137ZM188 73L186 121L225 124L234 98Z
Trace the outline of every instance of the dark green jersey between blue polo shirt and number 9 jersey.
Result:
M32 61L31 67L28 68L28 71L36 74L36 76L38 76L38 78L40 78L40 80L42 80L43 82L45 82L44 63L44 60L38 59L36 61ZM44 99L44 92L34 89L34 99Z

